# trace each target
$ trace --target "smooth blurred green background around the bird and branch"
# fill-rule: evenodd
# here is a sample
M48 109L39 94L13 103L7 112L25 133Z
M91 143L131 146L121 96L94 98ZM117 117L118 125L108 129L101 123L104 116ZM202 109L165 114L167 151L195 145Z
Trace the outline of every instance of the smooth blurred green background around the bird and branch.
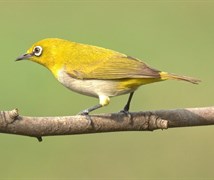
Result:
M212 106L213 1L0 1L1 110L74 115L97 99L71 92L38 64L14 62L47 37L93 44L200 78L141 87L131 111ZM95 113L118 112L128 96ZM214 126L36 139L1 134L0 179L213 178Z

